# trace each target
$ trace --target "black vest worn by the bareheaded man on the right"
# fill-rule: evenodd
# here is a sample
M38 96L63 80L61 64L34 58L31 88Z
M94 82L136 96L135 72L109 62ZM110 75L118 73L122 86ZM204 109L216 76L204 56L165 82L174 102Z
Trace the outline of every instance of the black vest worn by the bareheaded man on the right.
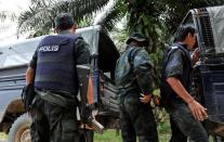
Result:
M172 48L175 47L175 48ZM183 52L183 74L177 77L177 79L182 82L184 88L189 92L190 90L190 76L192 76L192 64L190 64L190 55L188 51L179 43L173 43L171 48L169 48L163 55L162 70L161 70L161 79L160 79L160 95L161 95L161 106L168 105L171 100L181 100L180 96L173 91L173 89L168 85L166 78L166 67L169 62L171 54L173 54L176 50L181 50Z

